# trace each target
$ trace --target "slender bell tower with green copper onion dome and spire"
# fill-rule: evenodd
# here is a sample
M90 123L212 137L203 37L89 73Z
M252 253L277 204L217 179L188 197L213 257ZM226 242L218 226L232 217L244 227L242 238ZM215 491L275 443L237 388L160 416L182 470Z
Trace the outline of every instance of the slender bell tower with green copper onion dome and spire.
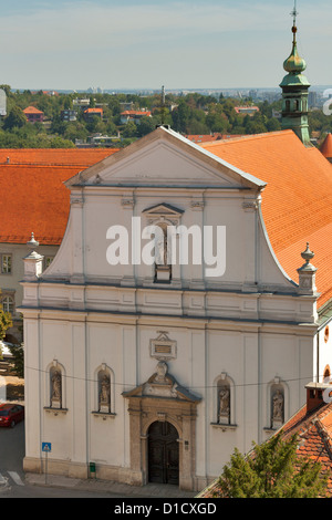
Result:
M292 129L305 146L312 146L308 123L308 91L310 83L303 75L307 69L305 61L298 53L297 43L297 2L291 12L293 17L293 43L289 58L283 62L283 69L288 74L283 77L282 89L282 119L283 129Z

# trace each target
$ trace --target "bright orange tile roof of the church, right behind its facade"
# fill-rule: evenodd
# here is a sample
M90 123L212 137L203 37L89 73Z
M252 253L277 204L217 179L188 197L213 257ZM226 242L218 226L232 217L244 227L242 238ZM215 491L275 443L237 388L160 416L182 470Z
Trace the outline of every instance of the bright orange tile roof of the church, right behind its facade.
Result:
M292 131L217 141L201 146L267 183L262 215L271 246L298 282L300 254L310 243L322 306L332 298L332 166Z

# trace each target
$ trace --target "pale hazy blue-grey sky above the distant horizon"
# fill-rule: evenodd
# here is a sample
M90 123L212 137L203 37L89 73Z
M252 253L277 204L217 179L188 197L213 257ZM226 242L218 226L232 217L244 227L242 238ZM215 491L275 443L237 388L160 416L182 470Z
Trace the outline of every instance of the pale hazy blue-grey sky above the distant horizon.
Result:
M12 89L278 87L294 0L0 0ZM298 0L298 49L332 87L331 0Z

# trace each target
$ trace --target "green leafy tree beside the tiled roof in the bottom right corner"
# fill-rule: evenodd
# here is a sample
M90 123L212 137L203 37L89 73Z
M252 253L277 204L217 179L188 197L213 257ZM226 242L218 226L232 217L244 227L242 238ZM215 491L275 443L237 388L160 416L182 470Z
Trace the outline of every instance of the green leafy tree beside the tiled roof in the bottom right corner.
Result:
M238 449L219 478L220 497L228 498L318 498L324 497L328 475L322 467L297 455L299 438L282 440L280 430L257 445L249 456Z

